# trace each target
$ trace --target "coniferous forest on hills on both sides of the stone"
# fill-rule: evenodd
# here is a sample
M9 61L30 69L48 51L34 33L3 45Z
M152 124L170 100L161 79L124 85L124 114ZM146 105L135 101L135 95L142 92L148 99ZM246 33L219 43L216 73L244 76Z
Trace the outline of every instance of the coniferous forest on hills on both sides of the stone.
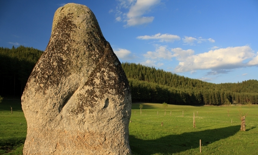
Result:
M19 46L0 47L0 96L21 96L43 51ZM132 102L176 105L257 104L258 81L214 84L162 69L122 63L131 87Z

